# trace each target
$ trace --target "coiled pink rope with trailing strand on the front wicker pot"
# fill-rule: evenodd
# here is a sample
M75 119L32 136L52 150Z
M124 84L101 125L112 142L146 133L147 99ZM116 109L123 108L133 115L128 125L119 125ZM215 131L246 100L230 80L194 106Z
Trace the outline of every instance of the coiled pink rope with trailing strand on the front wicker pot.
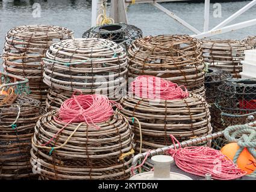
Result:
M42 146L51 143L71 123L86 122L91 127L100 128L96 123L107 121L113 115L112 104L122 107L115 101L108 100L105 95L75 95L74 92L71 98L61 104L58 117L54 117L55 120L67 124Z

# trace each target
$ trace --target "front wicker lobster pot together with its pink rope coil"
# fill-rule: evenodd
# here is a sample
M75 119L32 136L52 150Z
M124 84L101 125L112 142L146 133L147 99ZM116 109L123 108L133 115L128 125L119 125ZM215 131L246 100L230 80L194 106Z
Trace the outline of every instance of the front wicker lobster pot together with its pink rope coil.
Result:
M40 179L128 179L133 134L104 95L73 95L37 122L31 165Z

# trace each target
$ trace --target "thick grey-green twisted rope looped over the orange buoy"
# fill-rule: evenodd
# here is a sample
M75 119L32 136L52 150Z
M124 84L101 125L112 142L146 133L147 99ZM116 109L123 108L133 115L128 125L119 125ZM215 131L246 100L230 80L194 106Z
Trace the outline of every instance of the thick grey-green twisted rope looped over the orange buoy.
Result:
M237 163L239 155L245 148L248 149L249 153L256 160L256 127L251 127L249 125L233 125L226 128L223 131L223 134L228 142L235 142L240 147L233 158L234 163ZM249 176L256 177L256 170Z

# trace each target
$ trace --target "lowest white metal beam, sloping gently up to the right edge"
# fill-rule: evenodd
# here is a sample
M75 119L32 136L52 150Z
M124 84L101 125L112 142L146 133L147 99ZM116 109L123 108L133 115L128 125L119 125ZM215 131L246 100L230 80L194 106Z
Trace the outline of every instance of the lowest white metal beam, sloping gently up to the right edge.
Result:
M191 37L195 38L205 38L205 37L211 37L214 35L224 34L225 32L235 31L237 29L247 28L248 26L256 25L256 19L248 20L246 22L237 23L234 25L228 25L224 26L221 29L211 30L207 32L202 32L198 35L191 35Z

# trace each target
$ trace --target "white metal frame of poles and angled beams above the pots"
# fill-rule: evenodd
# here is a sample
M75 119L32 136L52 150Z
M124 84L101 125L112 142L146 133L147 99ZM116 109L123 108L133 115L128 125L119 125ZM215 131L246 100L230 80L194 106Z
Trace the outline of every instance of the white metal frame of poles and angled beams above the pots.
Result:
M98 10L98 4L101 0L93 0L92 1L92 26L96 25L96 17L97 17L97 10ZM120 0L124 1L126 4L131 4L132 0ZM209 30L209 13L210 13L210 0L205 0L205 8L204 8L204 31L201 32L180 17L176 16L172 11L167 10L162 5L158 4L158 2L172 2L174 0L136 0L135 3L151 3L154 5L154 7L157 7L159 10L166 13L168 16L172 17L172 19L176 20L176 22L179 22L181 25L185 26L186 28L190 29L194 34L192 34L192 37L196 38L205 38L205 37L211 37L213 35L219 35L223 34L225 32L235 31L237 29L243 29L248 26L256 25L256 18L247 20L245 22L236 23L234 25L228 25L231 21L239 17L242 13L245 13L245 11L249 10L249 8L256 5L256 0L252 0L249 2L245 7L238 10L236 13L225 19L223 22L219 23L219 25L215 26L213 29ZM176 0L177 1L177 0ZM178 0L179 1L179 0ZM184 1L184 0L180 0ZM118 11L118 9L116 10ZM120 14L126 14L126 13L120 13Z

